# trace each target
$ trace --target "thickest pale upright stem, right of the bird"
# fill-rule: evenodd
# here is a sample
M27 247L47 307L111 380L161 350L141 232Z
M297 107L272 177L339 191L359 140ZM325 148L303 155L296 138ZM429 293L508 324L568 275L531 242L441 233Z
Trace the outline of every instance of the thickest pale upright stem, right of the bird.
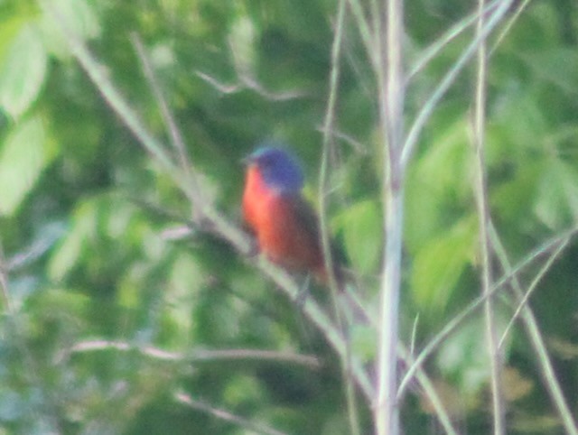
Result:
M379 115L386 171L384 177L386 255L381 279L378 323L377 403L375 422L378 435L399 433L399 410L396 403L396 347L401 246L403 228L403 171L400 157L403 141L404 73L402 63L403 0L387 0L384 22L385 41L378 32Z

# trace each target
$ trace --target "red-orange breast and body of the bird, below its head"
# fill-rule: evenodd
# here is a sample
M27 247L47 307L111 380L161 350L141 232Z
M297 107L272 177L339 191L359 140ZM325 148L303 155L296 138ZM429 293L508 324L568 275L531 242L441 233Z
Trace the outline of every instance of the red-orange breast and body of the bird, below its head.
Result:
M315 214L301 192L268 186L256 164L249 165L243 215L259 249L288 269L325 275Z

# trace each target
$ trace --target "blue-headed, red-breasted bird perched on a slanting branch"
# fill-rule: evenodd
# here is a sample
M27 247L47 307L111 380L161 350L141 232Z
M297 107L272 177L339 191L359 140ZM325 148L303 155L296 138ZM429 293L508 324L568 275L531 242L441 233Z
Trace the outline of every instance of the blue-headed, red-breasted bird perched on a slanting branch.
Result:
M319 219L303 197L300 163L284 147L259 146L247 163L242 213L260 252L291 272L312 273L327 284ZM340 280L340 254L331 245L334 276Z

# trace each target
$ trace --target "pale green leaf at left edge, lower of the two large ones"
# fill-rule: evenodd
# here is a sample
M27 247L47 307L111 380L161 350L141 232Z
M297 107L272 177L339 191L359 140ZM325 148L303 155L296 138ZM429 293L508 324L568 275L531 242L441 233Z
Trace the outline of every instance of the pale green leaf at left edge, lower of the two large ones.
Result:
M34 116L15 125L0 148L0 215L11 215L33 190L51 161L42 121Z

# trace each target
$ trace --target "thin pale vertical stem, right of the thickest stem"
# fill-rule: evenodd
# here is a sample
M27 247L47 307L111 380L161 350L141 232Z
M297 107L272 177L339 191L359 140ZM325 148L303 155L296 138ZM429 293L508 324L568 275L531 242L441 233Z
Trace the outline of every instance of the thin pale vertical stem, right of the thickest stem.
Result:
M479 0L479 16L476 32L481 35L484 30L484 10L485 0ZM478 46L478 71L476 78L476 101L474 120L474 148L476 157L476 190L477 207L480 217L480 255L481 255L481 282L482 292L488 295L492 286L492 271L490 259L489 240L489 204L487 196L487 182L485 172L484 157L484 126L486 123L486 76L487 76L487 54L486 39L480 39ZM486 317L486 338L488 343L489 366L491 372L491 392L492 392L492 412L494 418L494 434L503 435L505 432L505 410L501 394L500 382L500 356L498 348L498 338L496 335L496 325L494 319L493 302L488 298L484 304L484 314Z

